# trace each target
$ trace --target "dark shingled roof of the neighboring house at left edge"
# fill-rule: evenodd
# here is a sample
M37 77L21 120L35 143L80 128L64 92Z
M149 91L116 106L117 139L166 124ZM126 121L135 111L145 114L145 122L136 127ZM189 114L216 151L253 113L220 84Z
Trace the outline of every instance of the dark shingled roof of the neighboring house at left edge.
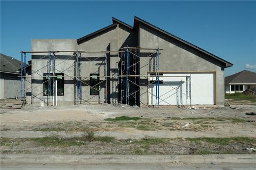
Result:
M1 72L20 74L19 69L21 68L21 62L19 60L16 60L13 57L4 55L2 53L0 53L0 55Z

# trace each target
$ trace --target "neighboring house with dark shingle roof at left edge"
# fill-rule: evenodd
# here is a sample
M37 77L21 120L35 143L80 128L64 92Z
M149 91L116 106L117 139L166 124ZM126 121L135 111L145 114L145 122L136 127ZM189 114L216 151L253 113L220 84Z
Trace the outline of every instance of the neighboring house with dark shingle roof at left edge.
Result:
M1 54L1 53L0 53ZM1 99L15 98L20 93L20 72L21 62L13 57L1 54Z

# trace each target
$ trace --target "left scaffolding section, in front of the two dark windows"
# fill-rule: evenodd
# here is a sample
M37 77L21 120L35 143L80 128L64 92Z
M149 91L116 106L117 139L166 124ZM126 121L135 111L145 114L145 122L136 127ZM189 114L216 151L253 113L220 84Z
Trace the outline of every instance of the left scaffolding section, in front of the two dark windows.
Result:
M71 56L68 56L68 58L66 58L65 60L61 60L60 58L58 58L55 53L70 53L70 52L73 52L74 54L71 55ZM59 73L63 73L64 76L61 76L61 77L66 77L66 78L71 78L71 79L75 79L76 80L76 83L75 83L75 86L74 86L74 101L75 101L75 104L77 103L89 103L88 100L90 99L83 99L82 98L82 84L85 84L85 86L89 86L90 88L93 88L97 91L99 91L99 103L100 103L100 89L96 89L95 86L97 86L98 84L102 83L102 82L106 82L106 72L107 72L107 69L106 69L106 53L103 53L103 52L84 52L84 51L21 51L21 92L20 92L20 95L21 95L21 99L23 101L26 102L26 91L27 90L31 90L31 98L37 98L41 101L44 101L44 103L46 103L48 106L50 105L50 97L52 96L52 105L57 105L57 90L55 89L55 84L57 86L57 77L55 75L55 71L58 71ZM33 70L31 69L31 74L37 74L38 76L26 76L26 68L29 66L27 65L26 66L26 54L27 53L47 53L47 55L44 55L40 58L37 59L37 61L33 62L32 64L39 64L41 65L42 67L41 68L36 68L36 70ZM101 80L99 83L95 84L94 86L90 86L90 84L84 82L84 80L82 79L85 79L85 80L90 80L90 76L82 76L82 55L81 53L88 53L88 54L104 54L104 57L105 57L105 61L103 61L103 71L104 71L104 76L99 76L99 78L103 78L103 80ZM43 60L43 59L46 59L47 57L47 64L46 65L43 65L43 64L40 64L38 61L40 60ZM75 61L74 61L74 64L70 65L69 63L67 63L66 61L67 60L70 60L70 58L72 57L75 57ZM99 56L99 57L102 57L102 56ZM86 58L87 61L90 62L93 62L93 61L97 61L97 59L99 58L95 58L94 60L90 60L90 57L83 57L83 58ZM56 65L55 64L55 61L56 60L59 60L60 62ZM68 65L68 67L65 67L65 70L59 70L57 69L56 67L62 63L65 63L65 65ZM85 66L89 63L86 63ZM47 73L46 75L41 75L41 74L38 74L37 71L39 70L42 70L44 69L45 67L47 67ZM74 76L73 75L68 75L67 73L65 73L66 70L70 69L71 67L74 67ZM100 67L100 66L99 66ZM99 68L98 68L99 69ZM46 78L47 80L46 81L43 81L43 83L40 83L39 85L37 86L33 86L33 83L29 82L28 80L26 80L26 78ZM26 82L27 83L30 83L30 88L26 89ZM44 84L45 82L48 82L48 87L47 87L47 92L44 92L43 89L38 89L37 91L41 91L39 93L37 93L36 95L33 94L33 91L41 86L41 84ZM107 83L105 83L107 84ZM34 88L34 90L33 90ZM51 90L52 88L52 90ZM107 88L107 85L105 87L105 100L106 100L106 88ZM45 94L46 97L44 97L43 99L42 98L39 98L38 96L41 95L41 94ZM46 101L44 100L46 99Z

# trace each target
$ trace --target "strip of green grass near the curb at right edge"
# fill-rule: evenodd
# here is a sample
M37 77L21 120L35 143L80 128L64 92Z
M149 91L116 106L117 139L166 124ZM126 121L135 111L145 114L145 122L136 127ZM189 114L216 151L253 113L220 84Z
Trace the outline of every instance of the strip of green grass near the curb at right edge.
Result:
M234 138L186 138L186 140L190 142L195 142L200 144L202 142L214 143L218 145L229 145L232 142L240 142L240 143L256 143L256 138L249 137L234 137Z

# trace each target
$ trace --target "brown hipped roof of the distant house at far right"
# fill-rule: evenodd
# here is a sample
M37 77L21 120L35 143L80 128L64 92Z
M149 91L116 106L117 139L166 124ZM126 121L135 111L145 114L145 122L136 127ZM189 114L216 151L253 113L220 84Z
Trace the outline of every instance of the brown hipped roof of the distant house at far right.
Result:
M225 78L225 84L256 84L256 73L241 71Z

